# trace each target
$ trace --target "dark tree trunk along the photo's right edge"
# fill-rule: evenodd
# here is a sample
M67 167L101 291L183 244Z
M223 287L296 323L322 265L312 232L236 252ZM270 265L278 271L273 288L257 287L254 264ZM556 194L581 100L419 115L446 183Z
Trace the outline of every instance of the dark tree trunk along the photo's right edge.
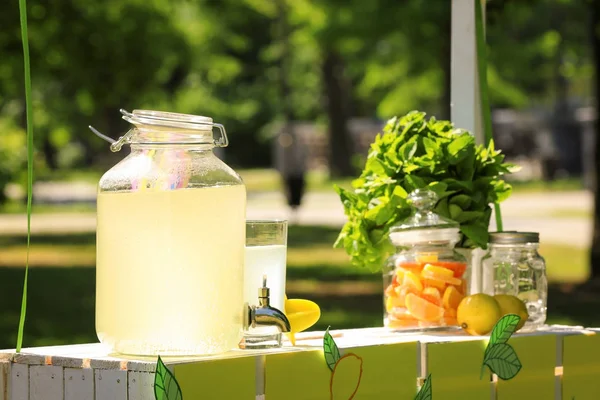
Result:
M594 70L596 76L594 80L594 97L596 100L596 113L598 114L598 99L600 99L600 0L594 0L591 3L591 31L592 31L592 49L594 53ZM594 185L594 233L592 238L592 248L590 255L591 279L600 280L600 125L598 117L594 121L596 131L596 144L594 149L594 167L595 179Z

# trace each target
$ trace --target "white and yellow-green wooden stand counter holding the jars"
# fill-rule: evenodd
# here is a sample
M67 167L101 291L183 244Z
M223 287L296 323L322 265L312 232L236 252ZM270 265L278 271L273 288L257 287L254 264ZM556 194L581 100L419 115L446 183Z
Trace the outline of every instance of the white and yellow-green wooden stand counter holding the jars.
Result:
M412 399L418 385L431 373L436 400L459 398L449 397L459 393L461 400L484 400L481 397L482 387L485 400L505 399L508 393L524 393L528 387L536 392L552 394L552 397L541 395L538 397L540 400L571 400L572 393L577 393L577 400L591 400L600 398L600 335L596 335L599 331L552 326L542 332L513 335L510 341L518 349L523 369L510 382L498 382L491 375L487 380L479 380L486 337L450 333L398 334L384 328L333 331L332 334L342 353L353 351L364 360L363 381L356 397L359 399L377 399L383 398L380 395L396 393L386 374L394 377L394 381L404 379L409 382L409 387L397 388L399 394L392 398ZM322 397L303 397L301 394L302 388L307 385L329 382L329 371L322 355L322 335L323 332L300 334L296 347L284 346L265 351L233 350L219 356L164 358L164 361L169 369L175 371L177 379L181 379L187 400L325 400L329 398L328 393L323 393ZM529 348L535 353L527 354ZM589 351L582 351L582 348L589 348ZM399 352L403 352L402 357L391 358L393 354L401 354ZM569 356L571 353L574 357ZM375 359L378 361L369 364L369 360ZM224 379L231 385L213 382L214 377L203 381L206 372L210 372L213 366L219 371L224 366L228 368L224 371L228 371L226 374L230 376ZM299 366L304 368L301 373L294 370ZM114 356L100 344L29 348L19 354L3 350L0 352L0 400L152 400L155 367L154 357ZM288 368L290 373L286 374ZM475 373L453 377L452 374L460 377L462 370L474 370ZM399 372L394 375L394 371L404 372L403 375ZM377 383L379 377L382 381ZM448 379L460 379L460 384L445 388L443 385ZM231 397L236 382L245 382L247 387L239 392L244 394ZM586 388L582 388L581 382L587 382ZM277 386L282 385L286 391L289 388L289 393L281 393ZM201 386L201 389L194 386ZM380 395L377 394L378 387L383 391ZM585 395L584 392L591 394ZM410 394L412 397L407 397ZM511 397L511 400L529 398Z

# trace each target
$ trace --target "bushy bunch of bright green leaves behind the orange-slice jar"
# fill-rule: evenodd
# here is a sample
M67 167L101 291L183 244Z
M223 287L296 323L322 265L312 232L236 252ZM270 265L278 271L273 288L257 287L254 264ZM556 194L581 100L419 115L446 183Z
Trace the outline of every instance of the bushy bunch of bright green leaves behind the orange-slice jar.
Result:
M392 250L389 228L412 212L408 193L427 187L438 196L435 212L460 224L458 246L486 248L490 204L510 195L502 175L513 168L493 141L476 145L450 121L419 111L394 117L371 144L353 190L335 186L348 217L335 246L346 249L354 265L379 270Z

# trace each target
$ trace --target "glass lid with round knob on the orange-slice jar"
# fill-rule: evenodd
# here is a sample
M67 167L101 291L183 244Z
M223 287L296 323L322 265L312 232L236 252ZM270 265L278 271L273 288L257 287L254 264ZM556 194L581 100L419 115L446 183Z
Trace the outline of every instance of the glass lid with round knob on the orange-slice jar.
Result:
M457 243L459 224L433 212L438 197L429 189L417 189L408 195L415 208L406 220L390 228L390 240L396 246L415 243Z

